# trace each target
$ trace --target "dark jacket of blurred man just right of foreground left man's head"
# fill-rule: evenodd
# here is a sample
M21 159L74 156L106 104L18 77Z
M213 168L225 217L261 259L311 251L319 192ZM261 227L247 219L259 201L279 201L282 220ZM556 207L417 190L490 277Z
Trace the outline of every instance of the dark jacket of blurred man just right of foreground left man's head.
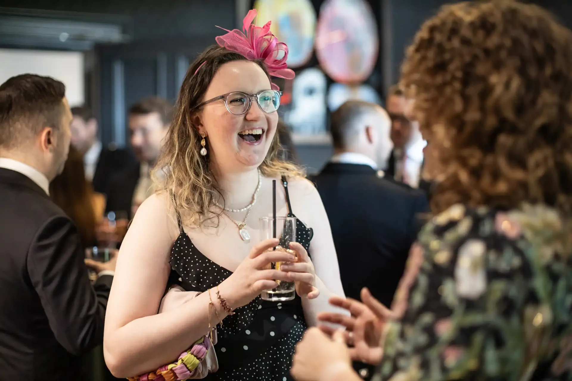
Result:
M109 146L101 149L97 159L96 170L93 173L93 190L106 194L110 180L117 173L133 165L134 159L126 150L116 149Z

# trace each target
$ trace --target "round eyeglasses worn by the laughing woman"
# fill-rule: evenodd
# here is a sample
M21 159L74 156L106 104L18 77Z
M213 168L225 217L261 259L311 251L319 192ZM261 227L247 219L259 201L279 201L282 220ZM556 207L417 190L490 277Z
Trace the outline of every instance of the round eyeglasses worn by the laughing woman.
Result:
M277 90L264 90L260 91L258 94L247 94L242 91L234 91L233 93L227 93L219 95L218 97L209 99L200 103L196 108L202 107L208 103L219 101L219 99L224 100L224 105L227 106L229 113L234 115L243 115L250 110L252 106L252 99L256 98L256 103L258 103L260 110L267 114L271 114L278 110L280 107L280 96L282 91Z

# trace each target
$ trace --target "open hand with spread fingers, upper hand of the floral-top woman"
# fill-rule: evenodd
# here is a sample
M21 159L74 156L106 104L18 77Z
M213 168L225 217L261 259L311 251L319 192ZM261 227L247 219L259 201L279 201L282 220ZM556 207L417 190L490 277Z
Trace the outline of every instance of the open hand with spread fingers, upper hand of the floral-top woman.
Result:
M383 356L383 343L381 343L383 326L387 320L394 319L395 314L375 299L367 288L362 289L361 296L363 303L333 296L329 299L330 304L348 310L351 316L322 312L318 315L318 320L344 326L347 329L345 340L349 345L353 344L353 348L349 350L352 359L376 365ZM333 335L336 331L335 328L323 324L319 327L328 335Z

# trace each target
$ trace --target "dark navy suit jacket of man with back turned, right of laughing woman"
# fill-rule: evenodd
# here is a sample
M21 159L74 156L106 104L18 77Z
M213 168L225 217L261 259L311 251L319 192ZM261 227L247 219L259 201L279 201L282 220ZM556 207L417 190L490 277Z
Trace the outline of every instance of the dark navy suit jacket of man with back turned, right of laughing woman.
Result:
M359 300L368 287L389 307L428 210L426 196L367 165L328 163L311 180L328 214L345 295Z

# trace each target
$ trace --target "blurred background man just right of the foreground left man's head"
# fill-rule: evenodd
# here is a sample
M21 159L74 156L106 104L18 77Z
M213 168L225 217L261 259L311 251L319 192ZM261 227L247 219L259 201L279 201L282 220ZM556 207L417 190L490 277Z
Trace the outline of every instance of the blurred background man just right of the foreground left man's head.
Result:
M109 180L133 164L132 155L114 144L102 146L97 138L97 119L88 107L72 107L72 114L72 145L84 155L85 177L94 191L105 194Z

